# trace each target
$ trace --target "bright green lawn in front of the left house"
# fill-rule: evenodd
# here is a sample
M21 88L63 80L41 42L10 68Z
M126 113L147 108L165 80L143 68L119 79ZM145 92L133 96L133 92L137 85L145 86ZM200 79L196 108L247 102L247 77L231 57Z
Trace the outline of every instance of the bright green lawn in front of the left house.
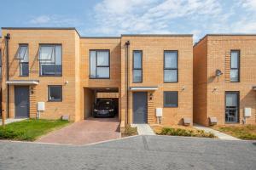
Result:
M0 139L14 139L34 141L40 136L55 129L66 126L70 122L61 120L28 119L21 122L12 122L3 129L0 126Z

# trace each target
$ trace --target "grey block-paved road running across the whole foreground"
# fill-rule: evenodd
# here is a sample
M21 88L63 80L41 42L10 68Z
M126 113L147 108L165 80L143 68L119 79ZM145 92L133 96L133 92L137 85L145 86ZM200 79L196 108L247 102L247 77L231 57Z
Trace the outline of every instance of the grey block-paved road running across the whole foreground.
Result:
M0 169L256 169L256 141L137 136L85 146L0 141Z

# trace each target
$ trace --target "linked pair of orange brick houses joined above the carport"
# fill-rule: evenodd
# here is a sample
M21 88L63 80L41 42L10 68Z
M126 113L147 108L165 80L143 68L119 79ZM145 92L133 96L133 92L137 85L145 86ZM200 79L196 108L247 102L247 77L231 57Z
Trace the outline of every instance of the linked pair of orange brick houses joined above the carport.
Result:
M193 121L192 35L81 37L75 28L2 28L1 48L3 116L78 122L91 116L96 99L111 98L121 127Z

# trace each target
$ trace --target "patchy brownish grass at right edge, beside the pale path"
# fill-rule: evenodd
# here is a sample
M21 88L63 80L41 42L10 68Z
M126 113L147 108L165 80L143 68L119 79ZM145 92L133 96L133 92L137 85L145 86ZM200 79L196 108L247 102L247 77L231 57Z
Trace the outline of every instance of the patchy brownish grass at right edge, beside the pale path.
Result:
M212 127L222 133L230 134L239 139L255 140L256 125L224 125Z

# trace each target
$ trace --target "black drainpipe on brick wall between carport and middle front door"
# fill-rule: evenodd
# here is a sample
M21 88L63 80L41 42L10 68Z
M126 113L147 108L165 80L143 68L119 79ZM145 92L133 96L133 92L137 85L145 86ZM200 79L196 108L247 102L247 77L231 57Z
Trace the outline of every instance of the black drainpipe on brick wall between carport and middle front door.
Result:
M129 45L130 41L125 42L126 46L126 124L129 122Z

